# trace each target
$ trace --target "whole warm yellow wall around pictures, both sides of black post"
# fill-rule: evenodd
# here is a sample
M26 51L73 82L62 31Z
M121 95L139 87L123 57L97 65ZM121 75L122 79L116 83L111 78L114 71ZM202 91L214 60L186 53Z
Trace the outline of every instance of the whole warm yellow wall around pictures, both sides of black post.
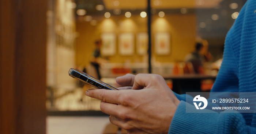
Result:
M116 33L116 54L109 56L110 63L124 62L143 62L147 61L147 56L135 54L132 56L123 56L118 53L118 34L123 32L134 33L136 45L136 34L139 32L147 32L147 18L142 18L139 15L126 18L124 16L111 16L109 19L105 17L93 18L98 21L96 26L90 25L90 22L77 21L77 38L76 46L76 63L78 66L89 64L89 57L95 48L94 40L100 38L103 32ZM185 55L193 50L196 38L196 16L194 14L180 15L172 14L165 15L160 18L157 15L152 19L152 52L158 62L176 62L184 59ZM154 54L154 34L156 32L169 32L170 34L170 54L159 56Z

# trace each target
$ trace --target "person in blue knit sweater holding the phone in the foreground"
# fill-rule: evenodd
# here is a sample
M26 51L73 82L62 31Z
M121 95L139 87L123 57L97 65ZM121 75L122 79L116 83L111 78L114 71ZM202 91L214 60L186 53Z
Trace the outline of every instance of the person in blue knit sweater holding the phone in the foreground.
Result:
M223 92L220 98L226 98L227 92L238 92L238 98L250 98L248 92L256 92L255 33L256 1L247 0L227 33L223 62L211 99L216 97L214 92ZM211 113L208 109L203 110L209 113L186 113L196 110L193 103L186 102L187 97L193 97L172 92L160 75L127 74L116 81L128 87L117 91L91 89L86 95L100 99L100 108L110 115L110 122L129 134L256 134L255 109L254 113L234 110Z

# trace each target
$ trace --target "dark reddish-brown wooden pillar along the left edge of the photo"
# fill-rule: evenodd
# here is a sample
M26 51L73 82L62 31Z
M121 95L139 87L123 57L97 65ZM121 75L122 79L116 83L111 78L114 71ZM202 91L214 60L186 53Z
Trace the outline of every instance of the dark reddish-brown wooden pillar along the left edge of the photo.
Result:
M46 133L47 0L0 0L0 134Z

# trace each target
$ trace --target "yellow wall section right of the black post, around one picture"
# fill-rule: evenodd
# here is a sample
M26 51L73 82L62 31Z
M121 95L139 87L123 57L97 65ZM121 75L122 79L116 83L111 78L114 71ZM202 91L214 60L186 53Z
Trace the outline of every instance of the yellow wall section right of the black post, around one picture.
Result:
M164 22L164 23L163 23ZM154 18L152 32L169 32L170 34L170 54L155 55L154 38L152 44L153 56L158 62L183 61L185 56L193 51L196 39L196 17L189 15L166 15L163 18ZM154 37L154 36L152 36Z

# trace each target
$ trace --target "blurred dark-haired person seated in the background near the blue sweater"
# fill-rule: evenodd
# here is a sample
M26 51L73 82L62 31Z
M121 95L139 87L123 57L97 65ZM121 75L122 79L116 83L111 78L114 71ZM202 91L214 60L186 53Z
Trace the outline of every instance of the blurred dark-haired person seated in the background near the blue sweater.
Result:
M185 63L191 63L196 74L204 74L204 56L201 54L203 47L202 43L196 43L195 50L185 57Z

